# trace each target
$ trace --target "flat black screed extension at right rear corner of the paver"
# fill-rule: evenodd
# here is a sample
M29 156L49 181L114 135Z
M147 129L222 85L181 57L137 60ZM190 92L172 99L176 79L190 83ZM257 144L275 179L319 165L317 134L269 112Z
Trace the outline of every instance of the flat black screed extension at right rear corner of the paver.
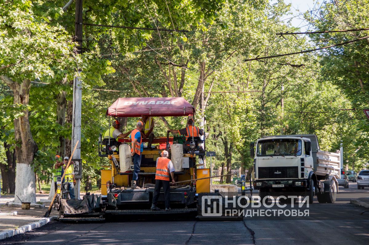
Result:
M197 200L197 218L199 220L243 220L243 208L246 199L241 198L238 193L228 193L227 195L219 192L199 193ZM238 202L239 200L239 202Z

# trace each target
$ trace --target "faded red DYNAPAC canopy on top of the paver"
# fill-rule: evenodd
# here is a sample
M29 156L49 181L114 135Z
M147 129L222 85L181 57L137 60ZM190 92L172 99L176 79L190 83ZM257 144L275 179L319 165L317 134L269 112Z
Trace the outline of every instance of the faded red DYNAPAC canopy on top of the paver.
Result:
M119 98L106 111L108 116L189 116L193 106L182 97Z

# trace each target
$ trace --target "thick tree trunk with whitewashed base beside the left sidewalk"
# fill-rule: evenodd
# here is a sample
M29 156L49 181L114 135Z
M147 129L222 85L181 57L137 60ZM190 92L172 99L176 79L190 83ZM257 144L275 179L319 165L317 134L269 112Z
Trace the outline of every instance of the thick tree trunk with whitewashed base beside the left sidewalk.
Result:
M17 171L15 174L14 201L36 203L35 175L33 159L38 147L32 138L30 121L28 118L28 102L30 100L31 80L25 79L17 83L7 76L0 76L14 93L14 104L24 106L23 116L14 119L15 158Z

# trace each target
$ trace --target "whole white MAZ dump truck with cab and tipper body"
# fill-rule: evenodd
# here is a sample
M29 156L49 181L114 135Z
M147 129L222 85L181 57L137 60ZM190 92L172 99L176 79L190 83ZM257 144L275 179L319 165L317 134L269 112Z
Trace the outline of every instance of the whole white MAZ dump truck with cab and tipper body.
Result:
M334 203L341 176L340 153L321 151L315 134L264 136L251 143L254 188L265 196L301 193L313 203Z

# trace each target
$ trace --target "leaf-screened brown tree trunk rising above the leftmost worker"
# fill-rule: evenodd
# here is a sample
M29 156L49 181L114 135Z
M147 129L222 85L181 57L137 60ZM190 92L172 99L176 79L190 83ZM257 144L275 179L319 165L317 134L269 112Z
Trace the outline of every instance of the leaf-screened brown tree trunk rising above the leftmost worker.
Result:
M66 84L67 82L67 77L65 77L62 79L61 84ZM60 94L56 95L56 122L61 126L64 126L66 106L66 92L61 91ZM59 155L65 156L65 138L63 136L59 136L59 142Z

